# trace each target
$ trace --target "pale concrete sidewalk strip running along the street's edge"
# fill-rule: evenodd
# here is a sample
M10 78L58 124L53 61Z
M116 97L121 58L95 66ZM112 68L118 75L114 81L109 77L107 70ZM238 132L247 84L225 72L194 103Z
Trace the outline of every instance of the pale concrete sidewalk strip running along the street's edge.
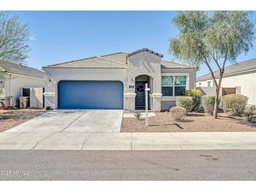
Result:
M1 132L0 149L256 149L256 132Z

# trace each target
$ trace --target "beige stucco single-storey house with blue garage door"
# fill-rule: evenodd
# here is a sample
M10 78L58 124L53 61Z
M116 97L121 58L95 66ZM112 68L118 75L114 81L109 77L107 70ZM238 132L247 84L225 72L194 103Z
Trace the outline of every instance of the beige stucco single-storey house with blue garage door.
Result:
M148 83L149 109L169 110L175 96L196 87L196 69L162 57L143 48L45 66L46 107L144 110Z

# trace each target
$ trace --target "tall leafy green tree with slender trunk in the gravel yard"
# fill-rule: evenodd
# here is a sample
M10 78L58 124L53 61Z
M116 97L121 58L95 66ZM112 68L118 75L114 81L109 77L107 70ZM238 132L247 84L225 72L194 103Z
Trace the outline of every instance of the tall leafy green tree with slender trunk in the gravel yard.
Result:
M220 86L227 61L234 63L241 53L248 53L254 39L252 13L245 11L181 11L173 22L179 34L170 39L169 53L199 67L206 64L216 88L217 118ZM215 76L217 68L219 76Z

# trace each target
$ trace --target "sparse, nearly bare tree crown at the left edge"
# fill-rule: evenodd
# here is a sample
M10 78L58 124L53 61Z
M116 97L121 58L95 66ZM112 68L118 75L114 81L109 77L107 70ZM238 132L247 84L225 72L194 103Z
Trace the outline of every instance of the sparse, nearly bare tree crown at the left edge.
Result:
M27 59L29 46L27 24L21 25L17 15L0 12L0 60L24 62Z

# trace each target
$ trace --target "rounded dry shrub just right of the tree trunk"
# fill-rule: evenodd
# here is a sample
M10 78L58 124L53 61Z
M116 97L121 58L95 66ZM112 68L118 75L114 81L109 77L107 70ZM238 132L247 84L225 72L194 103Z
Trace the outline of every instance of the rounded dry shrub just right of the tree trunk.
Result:
M224 95L222 98L224 112L232 116L241 116L247 102L248 97L238 94Z

